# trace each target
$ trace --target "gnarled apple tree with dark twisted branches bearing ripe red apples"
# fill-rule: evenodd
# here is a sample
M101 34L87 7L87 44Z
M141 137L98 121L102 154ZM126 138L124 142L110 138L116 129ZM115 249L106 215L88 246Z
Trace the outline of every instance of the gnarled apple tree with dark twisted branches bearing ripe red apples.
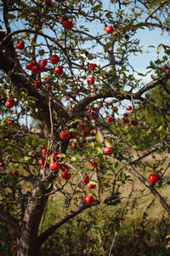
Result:
M88 207L101 201L116 206L120 183L129 180L127 172L138 177L170 214L167 201L144 174L148 168L144 157L169 147L168 125L150 127L150 121L138 115L139 109L152 106L166 124L169 106L159 106L144 94L158 84L169 93L170 48L163 44L157 48L164 55L150 61L149 72L155 70L155 77L149 84L136 79L138 72L129 62L130 55L142 53L139 29L170 31L169 1L110 4L116 11L93 0L1 3L0 220L17 238L18 255L38 255L55 230ZM96 21L106 32L91 31ZM132 109L116 119L116 108L124 100L132 102ZM106 119L109 116L112 119ZM30 117L37 127L30 126ZM141 145L148 136L154 138L144 152L135 151L137 131L144 134ZM105 147L110 148L108 153L103 152ZM168 184L166 173L159 169L161 160L155 169L160 186ZM113 176L106 178L106 171ZM89 192L83 177L97 185L94 192ZM39 235L42 214L54 194L65 198L70 211Z

